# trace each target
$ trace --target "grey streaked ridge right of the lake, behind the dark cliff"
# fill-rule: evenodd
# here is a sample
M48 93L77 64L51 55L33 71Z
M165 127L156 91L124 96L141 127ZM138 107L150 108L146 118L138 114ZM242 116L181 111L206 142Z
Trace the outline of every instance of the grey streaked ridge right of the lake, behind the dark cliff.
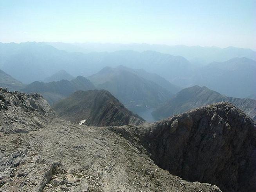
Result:
M178 92L170 100L152 112L156 119L187 112L191 109L202 107L211 103L228 101L242 109L252 119L256 120L256 100L227 97L207 87L193 86Z

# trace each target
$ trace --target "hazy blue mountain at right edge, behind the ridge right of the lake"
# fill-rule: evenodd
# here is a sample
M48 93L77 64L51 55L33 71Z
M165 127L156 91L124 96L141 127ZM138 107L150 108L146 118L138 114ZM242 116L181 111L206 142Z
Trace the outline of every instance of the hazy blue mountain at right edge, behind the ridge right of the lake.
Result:
M197 70L194 84L227 96L247 98L256 94L256 61L245 57L213 62Z

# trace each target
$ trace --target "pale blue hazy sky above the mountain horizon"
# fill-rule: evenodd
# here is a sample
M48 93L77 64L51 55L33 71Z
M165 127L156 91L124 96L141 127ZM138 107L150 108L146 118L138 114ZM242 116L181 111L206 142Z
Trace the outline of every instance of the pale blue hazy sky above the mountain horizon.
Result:
M0 0L0 42L25 41L256 50L256 0Z

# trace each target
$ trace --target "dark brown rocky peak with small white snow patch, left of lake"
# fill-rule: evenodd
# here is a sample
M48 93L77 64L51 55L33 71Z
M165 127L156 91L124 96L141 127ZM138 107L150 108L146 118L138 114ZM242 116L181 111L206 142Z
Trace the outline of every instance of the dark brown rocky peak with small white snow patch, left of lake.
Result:
M140 125L144 119L124 107L105 90L77 91L53 105L59 117L93 126Z

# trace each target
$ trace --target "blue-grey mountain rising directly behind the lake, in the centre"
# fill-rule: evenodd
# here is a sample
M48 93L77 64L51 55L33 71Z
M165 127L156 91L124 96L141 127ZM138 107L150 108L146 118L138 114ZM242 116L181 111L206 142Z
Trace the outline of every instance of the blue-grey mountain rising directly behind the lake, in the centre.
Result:
M97 89L108 90L129 108L136 108L138 105L157 107L173 95L155 82L122 67L103 68L88 79Z

